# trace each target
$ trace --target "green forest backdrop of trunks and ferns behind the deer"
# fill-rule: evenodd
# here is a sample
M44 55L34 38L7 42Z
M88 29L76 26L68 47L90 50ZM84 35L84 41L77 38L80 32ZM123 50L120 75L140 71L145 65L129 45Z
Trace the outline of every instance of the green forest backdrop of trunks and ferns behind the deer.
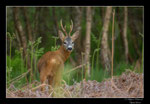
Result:
M40 82L39 58L62 44L60 20L68 32L71 20L79 31L62 83L102 82L127 70L142 74L143 13L143 7L7 7L8 92Z

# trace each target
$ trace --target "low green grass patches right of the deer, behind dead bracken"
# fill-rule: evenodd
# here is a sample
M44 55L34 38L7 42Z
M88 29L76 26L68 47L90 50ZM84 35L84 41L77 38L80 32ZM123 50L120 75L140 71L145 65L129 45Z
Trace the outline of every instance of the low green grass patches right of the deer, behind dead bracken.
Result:
M65 80L68 85L73 85L75 82L80 82L82 81L82 78L83 78L82 68L76 69L74 71L71 71L70 73L65 74L72 68L73 67L70 65L70 63L65 64L63 80ZM125 62L120 62L116 67L114 67L114 76L121 75L123 72L126 71L126 69L133 70L133 65L126 64ZM95 67L91 71L91 77L90 78L86 77L86 80L96 80L98 82L101 82L104 79L110 78L110 77L111 76L108 75L106 70L104 70L103 68Z

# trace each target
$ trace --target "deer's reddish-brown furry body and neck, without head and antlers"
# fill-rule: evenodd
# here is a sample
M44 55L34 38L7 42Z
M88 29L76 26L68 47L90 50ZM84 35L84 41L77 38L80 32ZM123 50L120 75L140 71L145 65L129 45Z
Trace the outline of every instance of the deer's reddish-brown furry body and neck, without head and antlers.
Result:
M56 86L60 83L64 62L70 53L62 45L57 51L49 51L40 58L38 70L41 83L45 83L46 79L48 79L51 86ZM41 90L44 90L44 87Z

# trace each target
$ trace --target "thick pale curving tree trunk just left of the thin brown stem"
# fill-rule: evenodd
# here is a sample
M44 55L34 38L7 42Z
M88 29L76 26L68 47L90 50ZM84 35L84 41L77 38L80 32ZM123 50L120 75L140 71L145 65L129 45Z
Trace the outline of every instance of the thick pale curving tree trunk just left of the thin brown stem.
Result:
M101 41L102 66L104 69L106 69L109 72L110 72L110 64L111 64L111 53L108 46L108 28L109 28L111 13L112 13L112 7L107 7L105 18L104 18L102 41Z

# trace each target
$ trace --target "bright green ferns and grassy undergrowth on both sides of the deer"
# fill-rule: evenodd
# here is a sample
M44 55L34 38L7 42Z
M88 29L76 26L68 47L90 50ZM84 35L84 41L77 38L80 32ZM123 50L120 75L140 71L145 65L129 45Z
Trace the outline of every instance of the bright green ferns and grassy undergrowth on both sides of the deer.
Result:
M9 34L9 37L11 35ZM56 45L56 41L58 37L54 38L54 46L51 47L51 51L57 50L60 46ZM11 38L12 39L12 38ZM12 39L13 40L13 39ZM13 42L11 40L11 42ZM29 42L28 44L28 54L31 57L31 68L33 69L33 78L36 81L39 81L39 72L37 70L37 61L44 54L44 48L39 48L39 44L41 43L41 37L38 38L35 42ZM10 43L11 44L11 43ZM11 51L11 45L10 45L10 51ZM83 72L83 67L77 68L76 70L73 70L73 66L70 64L69 61L65 63L64 72L62 80L64 80L68 85L73 85L74 83L80 82L83 79L86 80L96 80L98 82L103 81L106 78L110 78L110 75L104 70L102 67L100 67L99 63L100 61L97 60L99 57L100 48L97 48L94 50L91 56L91 76L87 77ZM27 61L27 60L26 60ZM98 62L97 62L98 61ZM122 72L125 72L126 69L133 70L133 65L126 64L125 62L119 62L114 64L114 76L119 76L122 74ZM22 49L15 50L15 55L11 57L10 55L7 55L7 87L10 87L10 85L14 85L16 88L21 88L25 84L27 84L27 75L24 75L28 71L27 64L24 64L23 56L22 56ZM12 81L13 79L17 78L16 81ZM30 78L31 83L31 78Z

